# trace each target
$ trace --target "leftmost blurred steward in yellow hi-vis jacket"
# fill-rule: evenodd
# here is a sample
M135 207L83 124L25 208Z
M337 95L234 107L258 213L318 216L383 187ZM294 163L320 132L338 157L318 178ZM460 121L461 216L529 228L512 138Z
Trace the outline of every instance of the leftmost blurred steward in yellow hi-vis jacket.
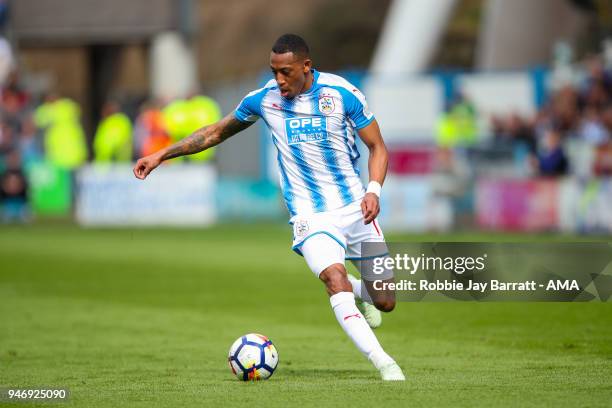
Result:
M87 159L81 109L68 98L50 94L34 113L36 125L44 130L45 157L64 169L75 169Z

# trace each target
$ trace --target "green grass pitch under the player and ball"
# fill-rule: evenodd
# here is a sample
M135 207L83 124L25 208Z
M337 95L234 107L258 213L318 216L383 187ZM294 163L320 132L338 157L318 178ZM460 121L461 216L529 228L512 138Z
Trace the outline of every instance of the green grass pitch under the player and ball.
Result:
M382 383L290 235L1 227L0 386L70 388L54 406L612 405L612 304L400 303L376 334L408 381ZM269 381L228 368L248 332L279 350Z

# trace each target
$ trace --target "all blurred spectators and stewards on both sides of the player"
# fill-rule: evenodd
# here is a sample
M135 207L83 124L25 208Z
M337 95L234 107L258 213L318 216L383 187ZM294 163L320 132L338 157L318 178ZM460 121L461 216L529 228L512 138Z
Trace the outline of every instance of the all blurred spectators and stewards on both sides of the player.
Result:
M449 164L452 153L445 153L454 148L510 150L518 155L526 173L547 177L563 176L572 170L567 152L571 141L609 152L612 70L599 55L576 67L576 72L583 75L557 89L551 84L549 99L536 115L493 115L485 118L490 123L484 130L478 126L482 118L469 95L459 94L440 118L437 135L432 135L432 143L440 148L438 170L456 166ZM103 106L95 134L87 137L77 103L55 93L32 95L20 84L16 69L5 75L0 104L0 192L5 221L29 219L28 171L37 163L68 172L90 161L130 163L216 122L222 114L212 98L202 95L150 100L142 104L135 117L124 113L118 101L110 100ZM186 160L202 162L213 157L211 149ZM609 174L612 166L599 163L601 168L595 173Z

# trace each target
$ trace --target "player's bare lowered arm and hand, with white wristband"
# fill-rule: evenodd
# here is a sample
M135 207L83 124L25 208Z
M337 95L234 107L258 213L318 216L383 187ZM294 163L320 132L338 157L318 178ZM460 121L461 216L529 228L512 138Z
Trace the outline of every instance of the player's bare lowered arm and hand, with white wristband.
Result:
M389 154L376 119L372 120L366 127L359 129L358 134L370 151L368 159L370 182L375 181L382 186L387 175ZM380 212L378 196L372 192L366 193L363 201L361 201L361 211L363 212L364 223L371 223Z

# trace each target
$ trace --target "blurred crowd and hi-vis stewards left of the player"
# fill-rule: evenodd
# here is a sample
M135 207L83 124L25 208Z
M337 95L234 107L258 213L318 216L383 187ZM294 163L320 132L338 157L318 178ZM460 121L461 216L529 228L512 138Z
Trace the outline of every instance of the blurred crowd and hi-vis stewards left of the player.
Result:
M9 66L0 96L0 200L5 222L30 219L28 180L37 165L44 163L73 177L87 162L131 163L221 118L219 105L203 95L146 101L133 118L118 101L109 100L95 134L88 137L76 102L56 93L32 95ZM185 160L213 157L214 148Z

